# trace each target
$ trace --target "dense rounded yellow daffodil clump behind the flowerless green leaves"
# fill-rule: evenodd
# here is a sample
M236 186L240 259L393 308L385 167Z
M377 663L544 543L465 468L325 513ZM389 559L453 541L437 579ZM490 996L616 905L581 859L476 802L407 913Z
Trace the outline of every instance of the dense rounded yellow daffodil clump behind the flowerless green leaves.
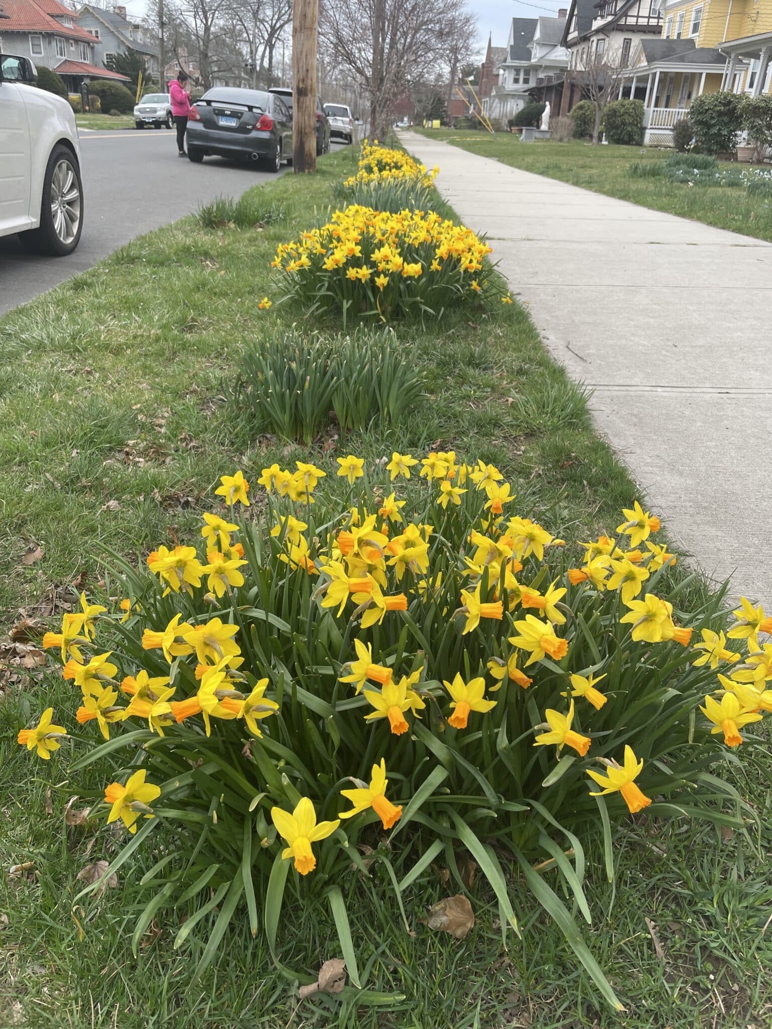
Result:
M491 248L470 228L438 214L393 215L350 205L292 243L281 244L284 298L309 313L340 312L381 320L441 317L450 309L491 298L481 274Z

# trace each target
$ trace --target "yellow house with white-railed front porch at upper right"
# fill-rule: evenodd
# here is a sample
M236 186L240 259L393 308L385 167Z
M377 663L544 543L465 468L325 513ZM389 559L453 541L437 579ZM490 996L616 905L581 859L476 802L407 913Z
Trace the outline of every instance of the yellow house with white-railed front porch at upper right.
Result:
M673 126L704 93L772 92L772 0L672 0L662 13L662 36L641 39L630 62L646 143L671 144Z

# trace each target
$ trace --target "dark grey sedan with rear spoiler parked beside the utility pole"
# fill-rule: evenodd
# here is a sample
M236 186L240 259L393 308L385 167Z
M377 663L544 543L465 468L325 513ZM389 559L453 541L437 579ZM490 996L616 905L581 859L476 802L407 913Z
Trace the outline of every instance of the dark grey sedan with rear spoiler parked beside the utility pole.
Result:
M292 162L292 115L281 97L261 90L216 86L187 115L187 156L245 157L278 172Z

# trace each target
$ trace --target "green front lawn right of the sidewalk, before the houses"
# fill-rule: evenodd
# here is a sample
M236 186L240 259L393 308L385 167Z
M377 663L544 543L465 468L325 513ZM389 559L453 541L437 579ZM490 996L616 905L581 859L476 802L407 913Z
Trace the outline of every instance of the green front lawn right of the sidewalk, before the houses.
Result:
M447 140L472 153L495 157L505 165L526 172L618 197L642 207L667 211L682 218L704 221L717 228L743 233L772 242L772 199L752 196L744 187L690 187L662 178L631 178L633 162L664 161L672 150L640 146L593 146L583 140L570 143L521 143L513 133L490 136L484 132L462 130L420 130L430 139ZM441 162L442 164L442 162ZM720 163L720 168L728 167ZM732 165L750 168L749 165ZM442 179L440 180L442 184Z

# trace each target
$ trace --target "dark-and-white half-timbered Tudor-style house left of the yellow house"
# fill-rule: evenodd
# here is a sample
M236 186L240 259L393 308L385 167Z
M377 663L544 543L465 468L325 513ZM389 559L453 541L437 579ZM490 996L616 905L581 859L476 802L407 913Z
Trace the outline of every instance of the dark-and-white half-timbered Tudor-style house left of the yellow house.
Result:
M560 113L585 97L589 66L630 65L642 37L662 35L665 0L571 0L563 45L569 51Z

